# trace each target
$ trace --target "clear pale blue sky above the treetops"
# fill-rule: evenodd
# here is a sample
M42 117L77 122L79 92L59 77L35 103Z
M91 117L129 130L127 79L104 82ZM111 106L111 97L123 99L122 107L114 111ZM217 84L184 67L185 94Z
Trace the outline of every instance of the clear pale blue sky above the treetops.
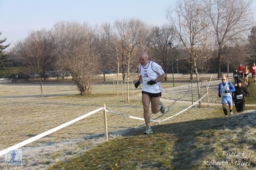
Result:
M56 22L88 22L91 26L115 19L141 19L162 26L166 10L176 0L0 0L0 40L13 47L28 32L50 29ZM10 48L8 48L10 49ZM6 49L7 50L7 49Z

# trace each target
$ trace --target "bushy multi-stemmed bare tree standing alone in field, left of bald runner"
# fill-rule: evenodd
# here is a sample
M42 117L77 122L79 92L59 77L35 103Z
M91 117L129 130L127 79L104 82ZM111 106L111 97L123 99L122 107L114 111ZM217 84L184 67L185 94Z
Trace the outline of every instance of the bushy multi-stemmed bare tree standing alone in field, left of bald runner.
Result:
M98 72L98 56L94 34L86 23L59 22L53 28L60 63L67 68L81 95L90 94Z

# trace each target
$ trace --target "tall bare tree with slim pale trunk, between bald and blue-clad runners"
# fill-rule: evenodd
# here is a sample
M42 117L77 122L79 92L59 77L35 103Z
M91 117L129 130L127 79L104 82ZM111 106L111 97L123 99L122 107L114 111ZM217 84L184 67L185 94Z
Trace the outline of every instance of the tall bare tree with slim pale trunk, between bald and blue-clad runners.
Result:
M205 30L205 13L201 0L178 1L174 10L169 9L167 19L175 28L176 35L191 58L192 73L196 73L198 87L198 99L200 96L200 77L198 73L198 61L203 61L203 51L206 49L207 33ZM175 17L173 17L173 14ZM201 102L200 102L201 105Z

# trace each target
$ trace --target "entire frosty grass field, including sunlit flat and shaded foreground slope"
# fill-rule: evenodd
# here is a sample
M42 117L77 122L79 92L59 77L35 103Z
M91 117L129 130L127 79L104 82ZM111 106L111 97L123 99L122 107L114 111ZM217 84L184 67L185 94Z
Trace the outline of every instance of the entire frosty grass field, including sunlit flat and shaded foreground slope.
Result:
M3 89L0 102L4 106L0 107L0 149L62 125L103 104L108 111L142 118L141 89L134 89L130 101L123 102L121 93L114 95L112 79L108 77L107 82L96 84L93 94L85 97L77 95L76 86L71 82L43 82L44 98L40 98L36 82L0 84ZM137 81L137 77L133 79ZM256 87L252 79L249 81L251 96L246 98L246 104L255 104ZM152 114L151 119L164 120L189 107L192 97L189 84L187 77L176 79L176 89L172 82L163 82L162 100L167 113ZM180 91L187 95L178 96L181 92L177 89L181 86L187 91ZM246 111L239 114L234 109L234 115L225 118L215 85L209 93L209 100L214 104L207 105L204 100L201 107L194 105L174 118L152 123L154 133L151 135L142 134L144 121L108 114L108 132L112 135L104 141L103 114L93 114L24 146L21 168L256 169L255 105L246 105ZM76 142L76 139L81 140ZM54 145L58 145L58 149L45 151ZM1 157L1 169L10 169L1 164L3 159Z

